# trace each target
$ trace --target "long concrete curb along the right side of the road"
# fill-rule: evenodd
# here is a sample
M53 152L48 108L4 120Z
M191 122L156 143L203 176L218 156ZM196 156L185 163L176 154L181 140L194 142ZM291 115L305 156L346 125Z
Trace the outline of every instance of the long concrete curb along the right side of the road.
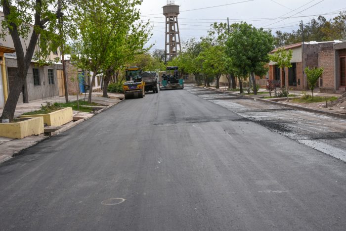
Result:
M198 87L198 88L201 88L201 87ZM201 89L204 89L204 88L201 88ZM244 97L253 98L253 99L265 102L265 103L276 104L279 106L289 107L289 108L296 109L296 110L302 110L302 111L307 111L307 112L311 112L311 113L317 113L317 114L321 114L321 115L332 116L332 117L336 117L339 119L346 119L346 115L343 115L340 113L334 113L334 112L323 111L323 110L318 110L318 109L313 109L313 108L307 108L307 107L294 105L294 104L290 104L290 103L280 103L280 102L276 102L276 101L272 101L272 100L268 100L268 99L263 99L263 98L254 98L254 97L251 97L250 95L246 95L246 94L238 94L238 93L232 93L232 92L220 92L220 91L217 91L216 89L209 89L209 90L219 92L219 93L236 95L236 96L241 97L241 98L244 98Z

